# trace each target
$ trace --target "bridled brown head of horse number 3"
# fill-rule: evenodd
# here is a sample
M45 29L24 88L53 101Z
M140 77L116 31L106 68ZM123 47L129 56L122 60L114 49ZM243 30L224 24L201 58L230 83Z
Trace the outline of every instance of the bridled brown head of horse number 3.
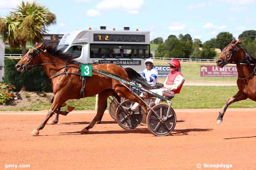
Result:
M35 47L29 49L29 51L20 59L18 64L16 64L16 69L19 72L31 69L33 66L41 64L39 53L42 51L40 48L43 43L37 44Z

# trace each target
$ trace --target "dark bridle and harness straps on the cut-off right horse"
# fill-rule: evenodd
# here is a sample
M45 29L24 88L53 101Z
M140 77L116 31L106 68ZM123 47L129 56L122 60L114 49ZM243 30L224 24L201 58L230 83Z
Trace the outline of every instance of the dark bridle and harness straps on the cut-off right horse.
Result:
M226 53L226 51L225 51L225 49L226 48L228 48L228 46L232 46L232 53L229 55L229 57L227 57L227 53ZM224 55L225 55L225 59L224 59L224 63L225 64L245 64L245 65L254 65L254 69L253 69L253 71L252 71L252 73L250 73L250 75L249 76L247 76L247 77L245 77L245 78L240 78L240 77L238 77L237 76L237 78L239 79L239 80L246 80L246 79L248 79L249 77L251 77L252 75L256 75L256 64L246 64L246 63L240 63L240 62L230 62L230 59L232 58L232 55L234 54L234 53L236 53L238 50L239 50L239 48L241 48L238 44L237 44L237 46L236 47L234 47L234 45L233 44L228 44L227 46L225 46L224 48L223 48L223 50L224 50ZM242 48L241 48L242 49ZM223 51L222 50L222 51Z

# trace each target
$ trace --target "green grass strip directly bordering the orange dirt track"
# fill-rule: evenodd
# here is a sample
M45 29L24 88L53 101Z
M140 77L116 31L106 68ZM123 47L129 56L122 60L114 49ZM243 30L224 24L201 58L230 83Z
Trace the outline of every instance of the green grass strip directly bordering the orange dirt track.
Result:
M237 91L237 86L183 86L181 93L176 94L172 100L173 108L221 108L228 98L235 95ZM76 107L75 110L95 109L95 97L71 100L66 103ZM48 110L50 106L50 102L32 101L31 107L0 108L0 111ZM252 107L256 107L255 101L247 99L245 101L235 102L228 108ZM62 108L62 110L65 110L65 108Z

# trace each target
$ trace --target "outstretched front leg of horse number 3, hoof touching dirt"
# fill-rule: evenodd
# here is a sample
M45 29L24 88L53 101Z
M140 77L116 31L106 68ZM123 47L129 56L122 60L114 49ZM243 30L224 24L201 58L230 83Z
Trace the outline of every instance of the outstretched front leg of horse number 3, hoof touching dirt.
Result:
M54 97L54 101L52 103L52 106L50 108L50 110L48 111L45 120L43 121L43 123L38 126L38 128L34 129L31 134L33 135L38 135L39 134L39 130L42 130L45 127L46 122L50 119L50 117L52 117L52 115L54 114L54 112L56 112L59 108L59 106L61 104L63 104L65 102L65 100L63 100L64 97L60 96L60 95L55 95Z

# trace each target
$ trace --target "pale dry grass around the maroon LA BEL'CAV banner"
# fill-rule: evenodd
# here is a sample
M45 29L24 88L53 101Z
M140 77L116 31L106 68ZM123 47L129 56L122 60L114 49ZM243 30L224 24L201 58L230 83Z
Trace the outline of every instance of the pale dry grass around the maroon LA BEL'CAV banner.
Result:
M155 62L154 65L167 66L167 62ZM186 83L227 83L236 84L237 77L200 77L200 65L212 65L215 63L192 63L181 62L181 72L185 77ZM163 82L165 78L159 78L160 82Z

